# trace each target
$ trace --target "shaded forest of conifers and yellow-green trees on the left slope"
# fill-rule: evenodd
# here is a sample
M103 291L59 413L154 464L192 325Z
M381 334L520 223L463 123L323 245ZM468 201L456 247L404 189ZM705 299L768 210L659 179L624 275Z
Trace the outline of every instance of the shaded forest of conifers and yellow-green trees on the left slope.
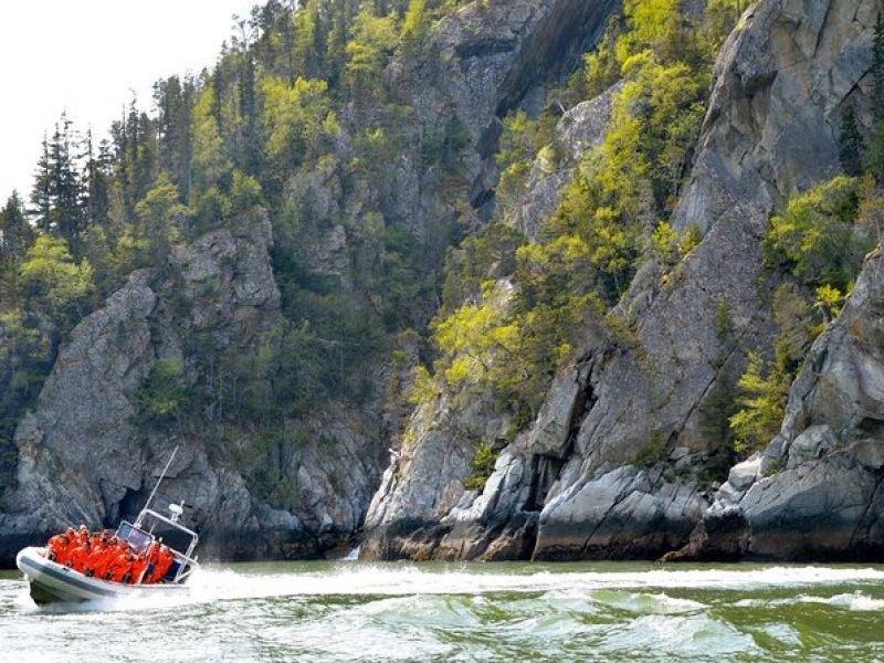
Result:
M309 2L293 14L270 2L239 22L211 71L158 81L152 99L133 101L108 140L96 144L71 119L59 120L44 140L33 191L27 200L13 194L2 217L4 482L14 467L15 424L73 326L134 270L161 272L173 245L255 206L270 211L284 297L272 347L212 357L217 375L187 385L187 398L177 394L180 367L164 365L158 392L143 399L144 414L197 424L211 412L274 431L332 396L372 398L370 361L421 320L454 224L438 229L439 236L417 236L407 220L388 221L370 190L412 143L427 144L418 150L422 167L439 165L457 186L457 173L445 169L466 140L454 122L438 135L413 135L413 112L382 75L397 52L423 48L430 24L454 9L340 0ZM333 180L359 186L327 196L358 197L364 209L349 219L344 211L311 218L296 189L305 182L292 182L297 172L325 173L329 188ZM317 264L309 245L316 225L343 222L344 254ZM193 361L203 364L212 349L197 352ZM254 361L277 369L270 394L263 380L256 383Z

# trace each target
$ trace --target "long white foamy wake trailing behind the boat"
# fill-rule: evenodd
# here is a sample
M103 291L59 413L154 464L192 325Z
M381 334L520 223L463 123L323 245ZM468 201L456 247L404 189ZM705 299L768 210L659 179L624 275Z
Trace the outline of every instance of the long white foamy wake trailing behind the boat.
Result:
M305 570L306 569L306 570ZM505 570L504 570L505 569ZM697 610L702 603L674 599L664 590L716 589L753 590L801 586L857 585L884 582L884 570L873 568L831 567L765 567L749 569L680 569L656 568L638 571L551 571L512 572L494 565L441 566L400 564L337 564L319 568L293 567L291 572L266 572L266 567L201 568L190 583L187 597L122 598L110 602L87 603L82 608L127 610L168 607L176 603L202 603L244 599L290 596L481 596L490 593L556 592L556 599L568 596L597 603L611 601L613 608L630 609L635 603L639 612L677 613ZM629 594L604 594L604 590L632 590ZM650 592L650 593L649 593ZM851 609L877 610L884 601L839 594L838 599ZM751 599L749 599L751 600ZM835 601L807 597L807 601ZM852 601L852 602L851 602ZM736 604L740 604L737 601ZM839 604L836 601L832 604Z

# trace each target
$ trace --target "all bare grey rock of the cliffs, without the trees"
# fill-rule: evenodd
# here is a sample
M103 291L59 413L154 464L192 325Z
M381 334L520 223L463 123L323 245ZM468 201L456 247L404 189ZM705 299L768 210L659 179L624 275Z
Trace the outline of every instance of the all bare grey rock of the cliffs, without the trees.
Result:
M469 6L442 21L438 45L457 74L428 86L413 106L422 122L453 107L465 123L471 149L461 166L477 215L497 175L488 146L501 109L543 86L537 71L594 43L617 9L518 0L490 13ZM257 456L246 453L254 431L222 445L221 424L139 428L139 389L157 360L181 361L192 386L206 370L190 360L196 335L221 350L254 350L270 343L282 314L271 224L260 208L176 248L165 272L135 272L77 325L19 422L17 486L0 508L0 567L69 524L109 526L137 512L176 444L182 453L162 497L187 501L204 555L221 559L318 558L357 536L366 560L881 559L880 251L807 356L780 434L723 485L702 476L713 452L702 411L717 378L738 372L747 352L769 348L776 334L762 292L770 284L759 285L768 219L793 193L840 171L841 108L851 104L869 117L876 11L873 0L761 0L747 11L719 55L673 217L680 231L699 228L702 241L677 278L653 261L639 270L614 309L634 338L588 326L578 360L552 378L539 415L515 438L511 415L491 399L448 394L417 407L408 442L390 459L380 414L340 403L315 417L335 443L311 440ZM393 63L389 75L419 80L414 66ZM555 171L538 159L507 220L525 236L537 238L538 220L555 209L581 152L603 138L621 86L560 118L564 156ZM413 175L403 162L397 181ZM334 189L318 180L292 186L328 197ZM415 182L398 188L414 196L388 192L391 215L428 215ZM314 238L323 246L316 260L334 271L346 262L344 229L326 231ZM722 302L733 317L727 338L715 332ZM465 485L477 439L498 444L481 491ZM249 483L248 471L263 464L284 477L284 499Z

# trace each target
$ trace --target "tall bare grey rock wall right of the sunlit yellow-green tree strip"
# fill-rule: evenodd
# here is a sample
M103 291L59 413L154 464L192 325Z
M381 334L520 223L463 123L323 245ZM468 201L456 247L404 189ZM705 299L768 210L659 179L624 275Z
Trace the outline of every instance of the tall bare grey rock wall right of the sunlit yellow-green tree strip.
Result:
M712 442L703 403L718 371L738 372L746 350L770 347L776 332L759 296L767 219L838 171L840 107L848 97L866 107L875 11L871 0L768 0L747 11L719 56L674 215L705 236L678 278L661 282L650 263L635 276L619 308L636 343L588 329L581 360L556 377L481 495L456 490L472 457L469 440L452 442L456 428L443 436L462 459L444 466L445 499L422 485L439 466L422 464L436 455L422 445L435 442L419 435L372 502L366 557L650 558L688 541L712 499L697 476ZM722 301L734 322L724 339ZM422 491L432 508L409 511Z

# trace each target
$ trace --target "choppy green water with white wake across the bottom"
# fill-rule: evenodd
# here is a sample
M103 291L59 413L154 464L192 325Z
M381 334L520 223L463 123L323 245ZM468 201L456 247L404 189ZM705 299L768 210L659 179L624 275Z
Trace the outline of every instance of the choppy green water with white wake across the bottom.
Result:
M0 661L105 660L884 661L884 567L232 565L52 609L0 573Z

